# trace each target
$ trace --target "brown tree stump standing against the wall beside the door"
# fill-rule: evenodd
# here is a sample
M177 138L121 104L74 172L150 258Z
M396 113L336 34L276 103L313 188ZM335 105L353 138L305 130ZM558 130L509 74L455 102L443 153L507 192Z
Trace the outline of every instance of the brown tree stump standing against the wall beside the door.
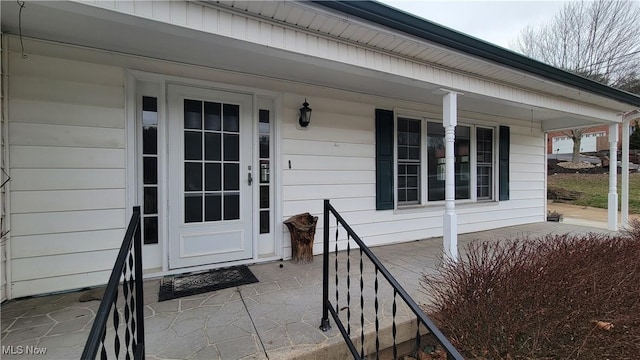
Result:
M284 221L291 233L291 260L296 264L313 262L313 238L316 235L317 216L299 214Z

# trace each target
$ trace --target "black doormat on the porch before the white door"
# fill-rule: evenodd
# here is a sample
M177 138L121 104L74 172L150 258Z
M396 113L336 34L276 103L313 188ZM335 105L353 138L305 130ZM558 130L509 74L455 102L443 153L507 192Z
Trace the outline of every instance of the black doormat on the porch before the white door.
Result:
M196 274L165 276L160 280L158 301L177 299L257 282L258 279L246 265Z

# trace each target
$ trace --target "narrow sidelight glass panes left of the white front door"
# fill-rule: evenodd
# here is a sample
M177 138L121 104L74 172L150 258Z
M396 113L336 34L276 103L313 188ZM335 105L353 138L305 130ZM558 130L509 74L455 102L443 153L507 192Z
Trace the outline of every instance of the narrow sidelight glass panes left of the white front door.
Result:
M142 238L158 243L158 98L142 97Z

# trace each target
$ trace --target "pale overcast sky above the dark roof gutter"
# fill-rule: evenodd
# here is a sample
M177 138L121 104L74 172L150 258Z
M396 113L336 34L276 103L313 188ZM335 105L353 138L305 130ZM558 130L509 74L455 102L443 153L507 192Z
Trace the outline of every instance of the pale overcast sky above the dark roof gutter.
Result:
M567 1L378 0L467 35L509 48L527 25L550 21Z

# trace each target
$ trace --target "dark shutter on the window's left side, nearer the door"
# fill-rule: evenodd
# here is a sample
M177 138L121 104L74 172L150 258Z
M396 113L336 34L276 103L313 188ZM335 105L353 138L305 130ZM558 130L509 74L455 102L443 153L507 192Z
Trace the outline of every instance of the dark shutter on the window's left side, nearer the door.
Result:
M393 111L376 109L376 210L393 209Z

